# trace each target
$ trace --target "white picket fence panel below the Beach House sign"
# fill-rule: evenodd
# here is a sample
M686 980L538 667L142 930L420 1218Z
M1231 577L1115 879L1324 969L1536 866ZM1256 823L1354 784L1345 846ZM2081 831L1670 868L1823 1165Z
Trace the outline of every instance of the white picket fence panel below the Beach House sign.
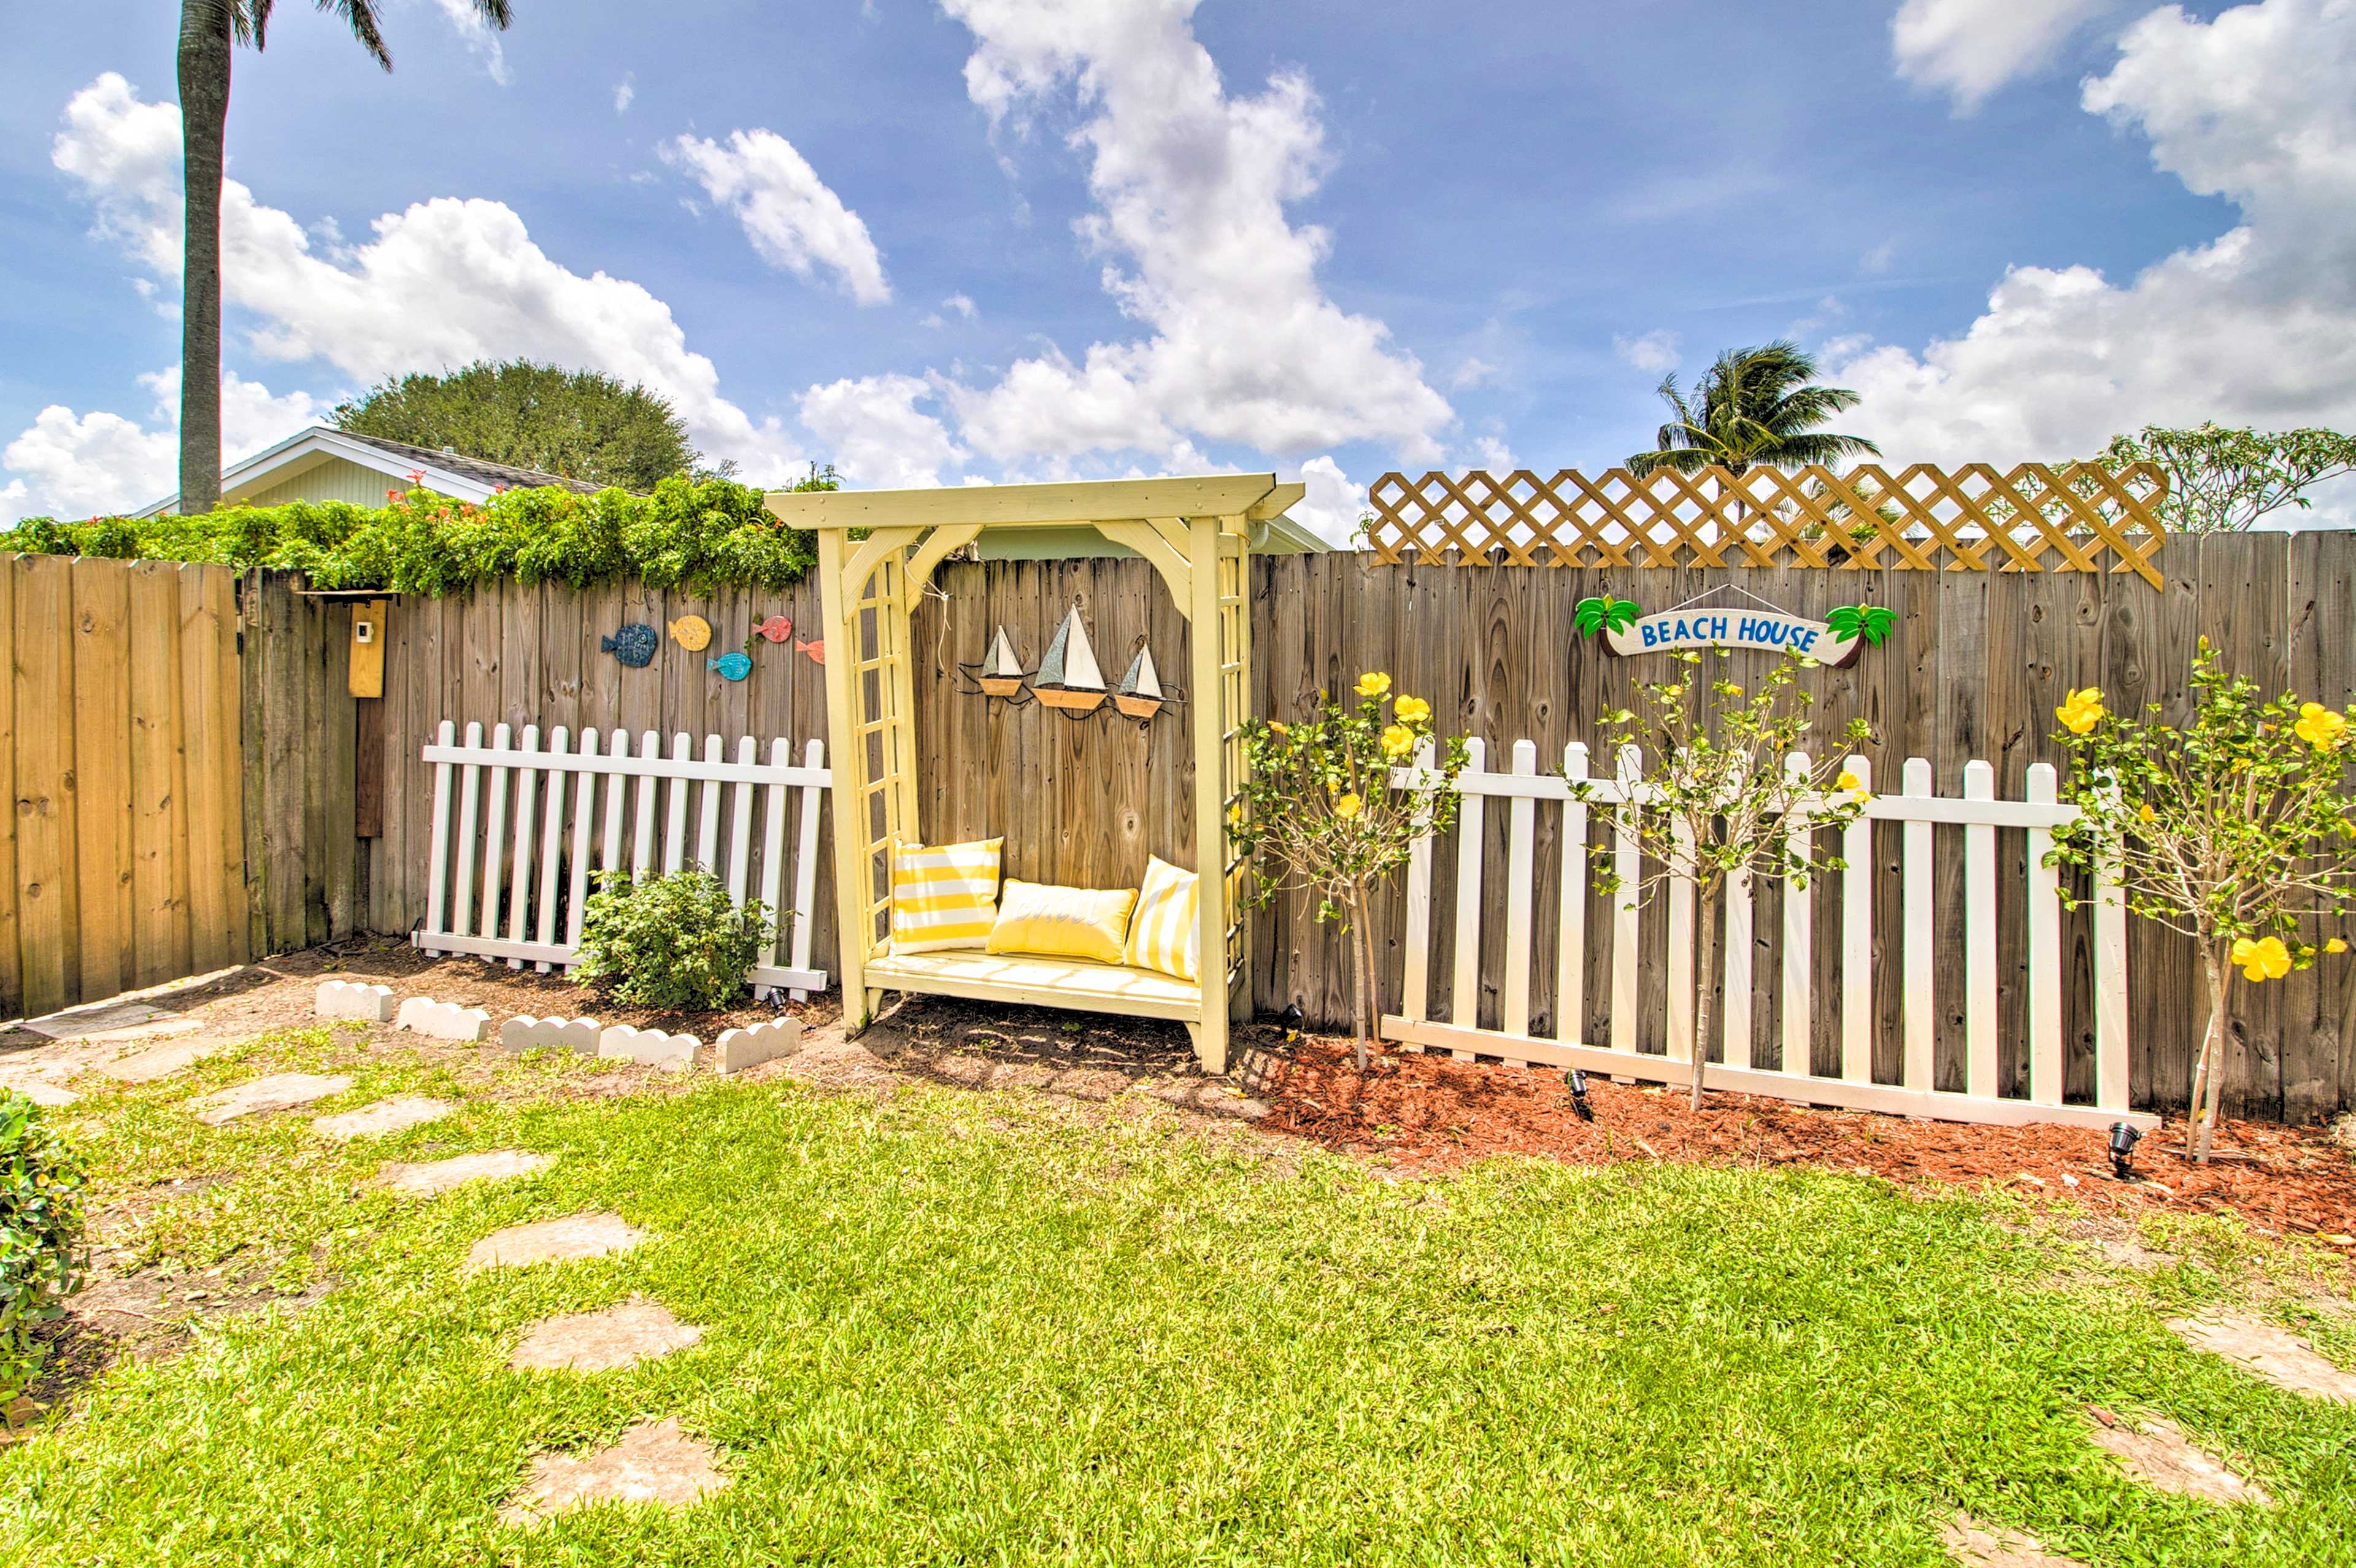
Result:
M1383 1038L1409 1048L1444 1048L1458 1057L1491 1055L1508 1062L1550 1062L1557 1067L1583 1067L1621 1078L1656 1083L1692 1083L1694 1062L1694 892L1692 883L1668 888L1666 954L1642 951L1642 925L1637 906L1628 892L1612 899L1609 928L1588 930L1590 885L1590 815L1602 810L1612 829L1612 864L1621 888L1635 888L1640 873L1640 845L1630 812L1644 810L1649 791L1640 784L1640 753L1628 746L1619 756L1614 777L1588 775L1588 749L1569 744L1562 753L1562 775L1538 772L1538 746L1515 742L1513 772L1484 770L1482 742L1470 742L1472 760L1456 779L1461 812L1456 826L1456 909L1454 909L1454 975L1449 986L1449 1017L1430 1017L1430 961L1432 961L1432 841L1423 838L1414 848L1407 873L1407 975L1402 1012L1383 1017ZM1428 768L1430 756L1418 758ZM1791 758L1793 768L1807 768L1805 756ZM1852 756L1847 768L1871 789L1873 770L1861 756ZM1423 775L1430 777L1430 775ZM1407 786L1416 779L1414 768L1392 775ZM1571 789L1571 779L1586 782L1586 793ZM1944 1121L1984 1123L2076 1123L2109 1125L2127 1121L2146 1128L2151 1116L2127 1111L2127 916L2106 878L2097 878L2094 906L2094 1104L2064 1104L2062 1069L2062 904L2057 899L2057 871L2045 866L2052 848L2052 829L2071 822L2078 810L2057 803L2057 777L2050 765L2038 763L2026 777L2026 800L1996 798L1996 770L1988 763L1967 763L1963 772L1963 798L1932 793L1932 770L1922 758L1908 758L1901 789L1894 796L1875 796L1864 817L1840 829L1840 857L1852 871L1819 871L1840 885L1840 1076L1816 1076L1809 1069L1809 1045L1819 1017L1819 998L1812 994L1814 932L1812 899L1793 892L1786 881L1781 975L1769 984L1781 984L1781 1067L1760 1069L1751 1062L1753 1003L1758 982L1753 970L1753 890L1748 883L1729 885L1725 892L1725 1034L1722 1064L1708 1067L1708 1085L1753 1095L1779 1095L1807 1104L1840 1104L1873 1111L1897 1111L1906 1116L1937 1116ZM1501 916L1505 921L1505 972L1498 984L1501 1026L1480 1026L1482 996L1482 921L1491 899L1482 890L1482 852L1487 833L1487 805L1501 800L1505 824L1505 897ZM1588 944L1609 944L1612 984L1612 1038L1604 1045L1571 1036L1548 1038L1529 1031L1531 1017L1531 961L1536 951L1534 904L1536 904L1536 812L1538 803L1557 805L1564 812L1562 864L1562 918L1555 932L1555 1019L1569 1031L1586 1017L1586 956ZM1805 812L1795 812L1805 817ZM1904 1012L1899 1034L1904 1041L1901 1083L1873 1081L1873 822L1901 822L1901 951L1904 965ZM1963 843L1963 909L1946 911L1965 923L1965 1088L1932 1088L1934 1048L1934 996L1932 951L1937 942L1937 890L1932 881L1932 826L1960 824ZM2029 1097L2010 1099L1998 1095L1998 829L2024 829L2029 864ZM1812 878L1814 883L1816 878ZM1647 961L1666 963L1666 1055L1637 1050L1637 975ZM1828 998L1824 998L1828 1001Z

